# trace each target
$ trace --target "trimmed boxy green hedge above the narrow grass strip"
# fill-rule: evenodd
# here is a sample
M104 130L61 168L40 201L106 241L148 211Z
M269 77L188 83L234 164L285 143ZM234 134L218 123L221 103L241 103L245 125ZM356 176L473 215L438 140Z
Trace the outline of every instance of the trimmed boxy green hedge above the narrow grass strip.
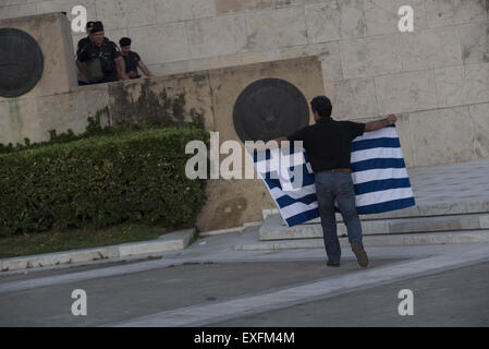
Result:
M0 234L124 221L192 226L205 181L185 176L197 127L152 129L0 155Z

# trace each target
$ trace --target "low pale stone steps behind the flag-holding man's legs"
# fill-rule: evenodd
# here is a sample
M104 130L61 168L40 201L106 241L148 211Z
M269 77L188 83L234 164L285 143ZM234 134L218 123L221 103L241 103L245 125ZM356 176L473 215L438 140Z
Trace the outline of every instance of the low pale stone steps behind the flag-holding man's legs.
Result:
M366 246L489 242L489 160L408 170L416 206L360 216ZM338 236L349 245L337 215ZM264 212L259 241L235 250L323 248L319 219L288 228L277 210Z

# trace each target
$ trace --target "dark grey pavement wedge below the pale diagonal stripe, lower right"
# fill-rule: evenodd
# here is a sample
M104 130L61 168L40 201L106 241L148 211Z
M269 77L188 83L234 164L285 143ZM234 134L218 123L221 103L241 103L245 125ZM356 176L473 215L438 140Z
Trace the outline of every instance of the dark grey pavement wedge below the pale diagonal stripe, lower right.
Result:
M212 327L484 326L489 325L489 263L249 315ZM411 289L414 315L400 316L399 291Z

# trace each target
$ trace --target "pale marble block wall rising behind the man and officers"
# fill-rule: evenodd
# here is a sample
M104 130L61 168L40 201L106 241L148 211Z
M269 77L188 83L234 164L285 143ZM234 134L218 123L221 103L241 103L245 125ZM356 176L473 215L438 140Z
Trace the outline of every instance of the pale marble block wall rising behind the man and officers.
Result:
M75 4L158 75L317 56L333 117L400 115L409 167L489 156L489 0L1 0L0 19Z

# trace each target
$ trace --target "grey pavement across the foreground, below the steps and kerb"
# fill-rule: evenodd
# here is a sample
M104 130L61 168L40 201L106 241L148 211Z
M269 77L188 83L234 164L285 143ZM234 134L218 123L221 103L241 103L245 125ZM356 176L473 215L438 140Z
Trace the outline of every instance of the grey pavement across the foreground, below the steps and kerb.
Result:
M358 310L341 305L349 302L344 300L349 297L355 302L365 301L366 308L362 309L377 314L376 324L389 325L389 318L396 312L400 287L415 290L416 304L435 300L429 292L425 298L416 291L420 285L435 291L453 290L450 297L440 297L435 302L438 308L426 311L440 316L444 316L441 309L449 312L459 309L457 314L463 313L456 304L463 306L467 298L460 294L457 299L456 293L461 282L466 281L456 276L438 281L430 278L456 270L465 270L462 274L473 280L470 289L479 291L470 293L473 306L465 317L455 316L452 322L439 325L456 325L457 318L463 320L461 325L489 325L486 317L489 306L485 308L488 277L484 273L489 244L367 246L371 261L367 269L359 268L352 252L343 249L342 266L327 268L322 249L234 250L235 245L256 239L257 230L249 228L242 233L203 238L186 250L163 254L160 260L11 272L0 277L0 325L309 326L316 323L322 326L349 322L365 325L358 321ZM74 289L87 292L87 316L71 313ZM379 302L387 297L390 303ZM376 306L380 310L375 310ZM325 322L328 312L337 314L339 321ZM428 315L423 314L423 308L416 308L413 318L392 324L428 325Z

